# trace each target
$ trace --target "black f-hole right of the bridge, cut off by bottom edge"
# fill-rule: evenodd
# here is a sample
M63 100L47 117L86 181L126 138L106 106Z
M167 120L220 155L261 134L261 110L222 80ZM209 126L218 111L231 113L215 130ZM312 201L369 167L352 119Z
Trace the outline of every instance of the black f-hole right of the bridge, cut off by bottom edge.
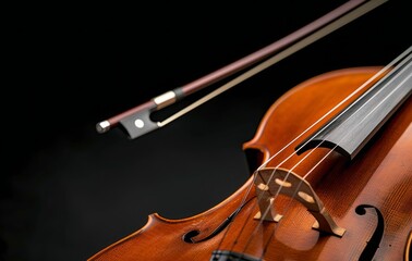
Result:
M385 220L381 212L369 204L360 204L356 207L355 212L359 215L364 215L366 213L366 209L374 209L377 215L377 224L374 234L372 235L371 239L367 241L365 249L363 250L361 257L359 258L360 261L369 261L373 260L376 250L379 248L379 244L381 237L384 236L385 229Z

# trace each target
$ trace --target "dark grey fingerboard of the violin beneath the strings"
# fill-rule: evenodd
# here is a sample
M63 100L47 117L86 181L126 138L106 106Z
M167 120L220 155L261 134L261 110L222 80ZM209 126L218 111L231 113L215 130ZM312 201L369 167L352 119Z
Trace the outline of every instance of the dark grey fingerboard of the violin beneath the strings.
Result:
M299 154L317 147L353 159L412 92L412 48L365 94L296 147Z

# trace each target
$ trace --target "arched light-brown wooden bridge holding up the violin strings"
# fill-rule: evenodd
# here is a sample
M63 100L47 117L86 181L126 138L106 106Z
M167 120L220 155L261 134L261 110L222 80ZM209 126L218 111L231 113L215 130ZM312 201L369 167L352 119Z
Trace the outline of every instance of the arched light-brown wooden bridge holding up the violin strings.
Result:
M274 196L282 194L294 198L306 207L307 211L316 219L312 228L338 237L343 236L346 229L336 224L312 186L301 176L287 170L267 167L256 173L254 184L259 208L255 219L279 222L282 215L275 213L271 206Z

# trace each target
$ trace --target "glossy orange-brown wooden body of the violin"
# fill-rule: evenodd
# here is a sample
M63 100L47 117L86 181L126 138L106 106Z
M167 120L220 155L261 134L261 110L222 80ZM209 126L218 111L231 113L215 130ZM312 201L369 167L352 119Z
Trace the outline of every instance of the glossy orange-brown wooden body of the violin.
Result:
M216 207L181 220L152 214L144 227L88 260L410 260L411 98L353 160L327 148L310 154L294 151L311 134L306 132L311 125L316 123L316 129L343 110L361 92L317 122L378 70L339 70L295 86L270 107L255 137L243 145L252 172L276 154L266 167L293 171L301 177L311 173L305 181L344 229L342 235L314 228L314 215L287 195L271 204L282 214L280 221L258 219L251 175ZM232 259L213 259L214 251L230 252Z

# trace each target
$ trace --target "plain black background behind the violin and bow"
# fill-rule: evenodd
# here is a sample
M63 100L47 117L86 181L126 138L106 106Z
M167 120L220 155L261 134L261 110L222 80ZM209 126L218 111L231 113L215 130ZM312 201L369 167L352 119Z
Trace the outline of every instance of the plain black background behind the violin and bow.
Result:
M118 128L97 134L95 124L343 1L14 7L3 35L1 258L85 260L150 213L182 219L219 203L246 181L242 145L284 91L332 70L386 65L409 47L405 2L384 3L134 140Z

